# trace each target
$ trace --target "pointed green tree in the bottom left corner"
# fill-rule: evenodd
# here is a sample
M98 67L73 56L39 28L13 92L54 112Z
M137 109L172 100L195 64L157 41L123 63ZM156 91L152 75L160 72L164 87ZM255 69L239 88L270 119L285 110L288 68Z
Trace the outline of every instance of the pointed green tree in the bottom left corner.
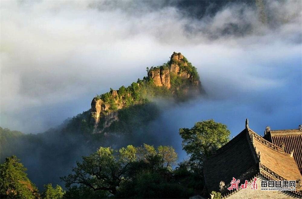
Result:
M39 198L38 189L27 178L26 168L16 156L1 164L1 198Z

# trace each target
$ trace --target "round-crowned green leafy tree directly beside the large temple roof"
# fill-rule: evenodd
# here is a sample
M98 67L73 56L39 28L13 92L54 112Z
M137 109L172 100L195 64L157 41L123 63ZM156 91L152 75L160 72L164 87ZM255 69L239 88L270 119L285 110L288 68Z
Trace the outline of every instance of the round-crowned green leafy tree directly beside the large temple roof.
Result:
M231 132L225 124L211 119L196 122L191 129L181 128L179 134L183 149L191 155L190 160L202 163L204 158L229 141Z

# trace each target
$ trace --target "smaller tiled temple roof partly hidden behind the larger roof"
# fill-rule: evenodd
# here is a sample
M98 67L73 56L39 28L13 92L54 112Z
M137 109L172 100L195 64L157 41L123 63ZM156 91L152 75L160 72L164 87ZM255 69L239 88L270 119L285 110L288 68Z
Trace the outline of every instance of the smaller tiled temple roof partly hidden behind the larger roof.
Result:
M291 153L302 174L302 128L289 130L266 130L265 139L277 146L284 144L284 151Z

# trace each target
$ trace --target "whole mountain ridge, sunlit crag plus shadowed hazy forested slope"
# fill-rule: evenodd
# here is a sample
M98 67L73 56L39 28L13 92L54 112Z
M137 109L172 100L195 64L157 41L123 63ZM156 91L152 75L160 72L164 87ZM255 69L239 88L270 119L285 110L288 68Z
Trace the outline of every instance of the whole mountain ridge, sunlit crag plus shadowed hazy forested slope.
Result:
M49 182L59 184L59 177L66 175L76 160L100 146L156 144L158 137L153 137L150 129L162 110L203 93L196 68L174 52L169 62L147 68L143 79L95 96L91 109L59 127L38 134L1 128L1 162L16 155L39 188Z

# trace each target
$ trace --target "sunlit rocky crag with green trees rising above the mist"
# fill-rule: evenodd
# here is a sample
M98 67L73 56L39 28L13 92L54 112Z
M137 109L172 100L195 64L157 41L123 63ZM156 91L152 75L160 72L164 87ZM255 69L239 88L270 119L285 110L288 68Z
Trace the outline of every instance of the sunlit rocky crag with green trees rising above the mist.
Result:
M138 79L127 88L97 95L91 103L94 132L102 132L118 120L118 110L142 104L152 98L175 98L184 101L192 95L201 94L202 88L197 69L182 55L173 52L168 63L147 68L147 77ZM104 124L99 124L99 123Z

